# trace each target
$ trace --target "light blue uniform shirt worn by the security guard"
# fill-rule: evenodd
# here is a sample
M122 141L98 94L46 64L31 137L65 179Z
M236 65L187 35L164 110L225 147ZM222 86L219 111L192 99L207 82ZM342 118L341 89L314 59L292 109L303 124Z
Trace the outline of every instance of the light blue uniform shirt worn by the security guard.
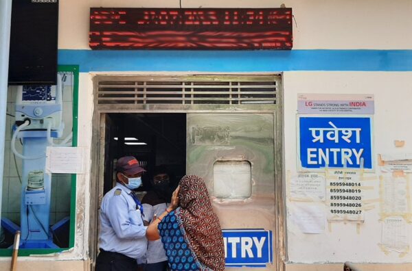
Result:
M130 193L130 189L117 183L104 195L100 208L99 246L137 259L144 256L148 247L147 227Z

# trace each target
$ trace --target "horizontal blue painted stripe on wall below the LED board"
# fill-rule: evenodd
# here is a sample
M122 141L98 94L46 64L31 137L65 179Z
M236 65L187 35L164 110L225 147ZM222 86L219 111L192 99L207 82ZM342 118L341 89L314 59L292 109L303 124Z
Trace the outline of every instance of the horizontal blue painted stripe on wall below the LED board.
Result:
M58 64L90 71L412 71L412 50L58 51Z

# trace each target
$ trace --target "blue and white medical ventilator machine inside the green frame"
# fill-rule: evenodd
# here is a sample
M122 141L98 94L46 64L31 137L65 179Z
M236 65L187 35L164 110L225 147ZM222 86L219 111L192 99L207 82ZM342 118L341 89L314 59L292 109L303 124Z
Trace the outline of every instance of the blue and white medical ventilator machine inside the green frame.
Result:
M16 122L11 148L22 159L21 248L58 248L49 225L52 176L45 171L47 146L66 146L71 133L60 144L65 125L62 121L62 82L57 86L19 86L16 95ZM23 153L16 151L21 140ZM63 200L63 199L62 199Z

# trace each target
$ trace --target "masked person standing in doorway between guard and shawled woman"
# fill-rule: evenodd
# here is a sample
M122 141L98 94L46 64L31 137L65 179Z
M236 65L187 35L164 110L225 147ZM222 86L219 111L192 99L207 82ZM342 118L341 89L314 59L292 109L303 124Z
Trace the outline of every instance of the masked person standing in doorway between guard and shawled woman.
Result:
M160 216L170 205L172 197L172 183L170 174L165 166L157 166L153 170L152 190L141 200L145 211L145 224L152 222L153 217ZM156 218L155 216L155 218ZM148 251L146 253L146 264L143 265L144 271L165 271L168 270L168 257L161 240L149 241Z

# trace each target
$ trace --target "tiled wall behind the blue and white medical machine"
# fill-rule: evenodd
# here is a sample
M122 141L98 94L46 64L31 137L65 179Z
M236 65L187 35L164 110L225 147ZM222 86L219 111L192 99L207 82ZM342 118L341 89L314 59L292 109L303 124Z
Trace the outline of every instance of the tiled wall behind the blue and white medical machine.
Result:
M61 142L69 135L73 119L73 80L71 76L67 77L65 87L63 88L63 121L65 130L62 138L54 140L55 143ZM20 201L21 201L21 181L19 175L22 172L22 161L15 157L10 150L12 140L12 125L14 124L14 105L16 101L16 87L10 86L8 89L8 103L5 131L5 151L4 151L4 170L3 170L3 191L1 217L8 218L14 223L20 225ZM16 140L16 150L21 153L22 146L19 140ZM70 214L70 192L71 192L71 175L54 174L52 175L52 198L50 203L50 225L55 224L62 218Z

